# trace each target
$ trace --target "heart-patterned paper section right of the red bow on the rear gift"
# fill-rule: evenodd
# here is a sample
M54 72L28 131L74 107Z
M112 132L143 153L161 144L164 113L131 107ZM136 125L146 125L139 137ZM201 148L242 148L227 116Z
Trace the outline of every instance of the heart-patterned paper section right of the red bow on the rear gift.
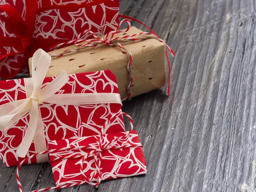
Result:
M93 0L38 0L38 9L54 5L70 5L70 8L38 13L34 37L75 39L86 29L95 32L97 36L116 29L119 23L119 0L102 0L104 3L94 1L99 3L86 8L72 8L73 5L91 3ZM81 38L88 38L88 35Z

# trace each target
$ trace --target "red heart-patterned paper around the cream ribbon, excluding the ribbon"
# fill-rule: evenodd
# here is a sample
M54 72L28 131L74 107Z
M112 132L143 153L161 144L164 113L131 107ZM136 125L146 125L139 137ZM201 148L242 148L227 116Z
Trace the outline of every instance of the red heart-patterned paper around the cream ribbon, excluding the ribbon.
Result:
M54 78L44 79L43 87ZM69 75L69 81L55 94L69 93L118 93L116 78L110 70ZM1 81L0 105L28 98L24 79ZM31 93L30 93L31 94ZM121 112L121 104L102 103L90 105L55 105L43 103L40 113L44 127L46 146L50 140L84 137L100 134L105 122L113 114ZM29 113L11 128L0 131L0 158L8 166L17 166L25 158L17 157L17 150L29 124ZM125 131L122 116L114 119L104 133ZM26 157L35 154L34 142ZM41 152L41 151L37 151ZM37 157L28 163L38 163Z

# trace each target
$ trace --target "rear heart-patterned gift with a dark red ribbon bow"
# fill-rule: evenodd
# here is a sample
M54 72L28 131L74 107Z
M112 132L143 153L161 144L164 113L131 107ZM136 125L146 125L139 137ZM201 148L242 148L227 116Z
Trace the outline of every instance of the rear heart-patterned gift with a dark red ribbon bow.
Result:
M26 73L27 60L38 48L49 51L86 29L104 35L119 23L119 0L0 0L0 5L0 77L4 79Z

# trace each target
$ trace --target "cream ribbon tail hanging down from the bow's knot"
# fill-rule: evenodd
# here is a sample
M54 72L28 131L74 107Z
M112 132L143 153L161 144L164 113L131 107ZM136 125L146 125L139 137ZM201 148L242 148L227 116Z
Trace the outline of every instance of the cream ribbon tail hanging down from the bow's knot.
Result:
M20 144L20 148L17 150L18 157L26 157L29 147L35 136L35 131L38 125L38 121L41 121L38 102L35 100L32 101L32 109L30 111L30 120L29 125L26 130L26 134Z

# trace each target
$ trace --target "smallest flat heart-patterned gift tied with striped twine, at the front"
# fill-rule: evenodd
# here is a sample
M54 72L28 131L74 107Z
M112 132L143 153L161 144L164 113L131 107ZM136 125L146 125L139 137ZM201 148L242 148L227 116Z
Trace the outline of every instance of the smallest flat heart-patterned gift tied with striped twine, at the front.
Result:
M61 150L72 147L75 149ZM50 141L49 150L54 149L60 149L49 153L57 187L84 183L97 186L101 180L147 171L137 131Z

